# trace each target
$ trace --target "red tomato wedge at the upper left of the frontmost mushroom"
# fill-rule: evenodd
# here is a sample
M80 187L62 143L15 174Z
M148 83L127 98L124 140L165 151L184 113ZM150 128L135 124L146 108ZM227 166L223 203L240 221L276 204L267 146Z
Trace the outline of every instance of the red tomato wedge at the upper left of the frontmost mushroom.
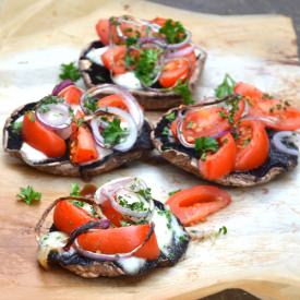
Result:
M82 225L96 220L83 208L75 206L70 201L60 201L53 212L53 223L58 230L70 235Z

